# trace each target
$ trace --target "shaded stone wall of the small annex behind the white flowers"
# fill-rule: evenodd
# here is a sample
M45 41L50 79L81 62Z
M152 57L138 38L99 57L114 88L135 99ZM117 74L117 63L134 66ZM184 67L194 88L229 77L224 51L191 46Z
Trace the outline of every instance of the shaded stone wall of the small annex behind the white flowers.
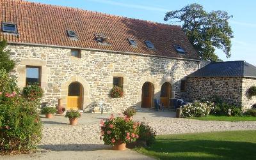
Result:
M241 106L242 82L241 77L188 78L187 94L184 94L184 98L188 101L194 101L218 96L230 105Z

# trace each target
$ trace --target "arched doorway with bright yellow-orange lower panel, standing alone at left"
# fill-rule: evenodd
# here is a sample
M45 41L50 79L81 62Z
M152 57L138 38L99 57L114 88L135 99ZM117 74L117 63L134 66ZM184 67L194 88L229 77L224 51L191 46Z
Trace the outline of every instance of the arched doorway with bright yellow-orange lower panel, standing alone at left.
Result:
M79 82L72 82L68 85L67 108L81 110L83 106L83 85Z

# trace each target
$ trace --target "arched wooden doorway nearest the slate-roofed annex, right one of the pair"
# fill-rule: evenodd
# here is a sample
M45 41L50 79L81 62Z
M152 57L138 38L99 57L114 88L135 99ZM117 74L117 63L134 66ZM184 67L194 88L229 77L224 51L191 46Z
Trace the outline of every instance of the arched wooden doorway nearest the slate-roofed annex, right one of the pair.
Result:
M172 98L172 85L165 82L161 87L160 101L165 108L170 107L170 98Z

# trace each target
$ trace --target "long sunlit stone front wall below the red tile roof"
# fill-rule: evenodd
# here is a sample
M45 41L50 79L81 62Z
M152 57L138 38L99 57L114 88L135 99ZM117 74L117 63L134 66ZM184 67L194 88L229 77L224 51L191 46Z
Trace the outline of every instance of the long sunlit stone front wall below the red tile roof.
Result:
M145 82L154 84L155 97L159 97L164 82L170 82L175 97L180 97L180 80L198 69L196 61L152 56L82 50L81 58L76 58L70 56L68 48L9 45L8 49L17 64L12 75L17 77L20 88L25 86L26 65L42 66L42 103L55 106L58 98L63 98L66 105L68 85L80 82L84 110L99 101L113 112L128 106L140 107ZM124 98L109 98L113 76L124 77Z

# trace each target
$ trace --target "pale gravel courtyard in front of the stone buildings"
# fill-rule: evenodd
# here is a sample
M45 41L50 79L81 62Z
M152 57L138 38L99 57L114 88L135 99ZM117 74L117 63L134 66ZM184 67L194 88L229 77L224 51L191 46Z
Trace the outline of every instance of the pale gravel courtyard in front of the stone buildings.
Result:
M68 159L65 154L76 159L151 159L132 150L116 152L99 139L100 120L110 113L83 113L77 126L70 126L64 116L55 115L45 119L42 142L39 148L46 153L33 156L14 156L8 159ZM115 114L118 115L118 114ZM176 119L175 112L137 112L135 121L145 122L157 131L157 135L175 133L198 133L209 131L256 130L256 122L221 122L193 119ZM49 152L51 150L51 152ZM79 151L79 152L76 152ZM84 157L86 155L86 157ZM95 157L97 155L97 157ZM79 157L81 156L81 157ZM1 158L0 158L1 159Z

